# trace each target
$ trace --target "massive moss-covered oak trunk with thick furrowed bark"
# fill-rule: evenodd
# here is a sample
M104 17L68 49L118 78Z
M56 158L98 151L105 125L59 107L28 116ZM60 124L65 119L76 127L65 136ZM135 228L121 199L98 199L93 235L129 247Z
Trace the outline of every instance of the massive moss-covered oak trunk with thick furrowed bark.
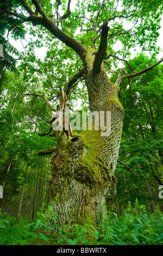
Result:
M110 82L103 66L95 72L95 53L89 48L84 63L90 111L111 112L111 133L101 136L100 129L85 130L81 135L74 133L76 139L71 141L65 132L58 131L58 148L52 154L49 204L57 213L60 225L70 223L72 218L76 223L84 224L89 216L97 223L106 201L116 194L114 170L124 111L118 100L117 87Z

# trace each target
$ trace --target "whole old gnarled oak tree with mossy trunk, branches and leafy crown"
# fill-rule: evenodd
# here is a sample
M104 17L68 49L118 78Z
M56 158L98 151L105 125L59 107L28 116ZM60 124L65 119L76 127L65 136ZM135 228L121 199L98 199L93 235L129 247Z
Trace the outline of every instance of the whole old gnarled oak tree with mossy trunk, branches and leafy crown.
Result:
M130 48L139 45L142 50L156 51L162 1L77 1L72 8L71 0L19 0L1 3L0 17L9 30L13 27L19 36L25 34L26 24L43 29L62 48L62 62L70 58L64 51L71 49L75 56L78 70L73 77L58 90L60 102L57 108L47 100L47 95L27 93L42 98L51 108L63 113L71 89L83 80L89 97L91 112L111 112L111 133L101 136L102 130L84 130L74 133L68 124L68 130L53 130L41 136L54 136L57 147L40 151L39 155L51 154L52 178L49 180L49 204L57 213L59 224L67 224L73 220L84 224L89 216L97 223L102 218L106 201L116 194L117 179L114 175L118 150L121 143L124 109L118 97L121 93L121 82L127 80L131 89L131 79L150 72L163 61L161 58L152 66L136 71L126 58L130 57ZM62 11L62 14L60 13ZM130 22L130 28L124 29L123 23ZM72 31L71 31L72 29ZM121 50L114 50L117 40L121 41ZM74 53L73 53L74 52ZM58 58L59 56L53 56ZM117 61L124 68L117 66ZM57 62L56 62L57 63ZM81 66L82 64L82 66ZM57 65L57 64L56 64ZM129 73L125 71L129 68ZM116 69L112 71L112 69ZM115 74L112 83L108 73ZM60 74L61 77L61 74ZM62 89L63 88L63 89ZM24 95L25 96L25 95ZM60 98L59 98L60 97ZM55 121L52 118L49 124ZM106 120L105 120L106 121ZM56 202L56 197L58 197Z

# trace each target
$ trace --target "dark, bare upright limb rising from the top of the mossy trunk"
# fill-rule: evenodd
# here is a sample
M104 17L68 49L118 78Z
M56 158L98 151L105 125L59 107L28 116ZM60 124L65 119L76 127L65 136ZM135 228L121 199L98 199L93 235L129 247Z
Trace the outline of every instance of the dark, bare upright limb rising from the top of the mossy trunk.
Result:
M102 26L101 42L100 42L98 51L95 54L95 60L93 62L93 71L96 74L101 72L102 62L106 56L108 31L109 31L108 21L106 20Z

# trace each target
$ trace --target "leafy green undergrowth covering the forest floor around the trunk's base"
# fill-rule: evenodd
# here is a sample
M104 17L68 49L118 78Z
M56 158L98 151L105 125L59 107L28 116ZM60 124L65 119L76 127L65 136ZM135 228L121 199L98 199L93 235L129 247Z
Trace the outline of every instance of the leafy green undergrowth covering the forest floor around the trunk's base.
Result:
M90 218L83 226L64 228L57 224L54 212L52 217L51 206L45 213L42 209L37 212L37 220L29 224L27 220L16 223L15 218L5 218L1 212L0 245L163 245L163 215L159 210L149 214L137 199L120 217L112 209L97 226ZM58 233L52 237L54 230Z

